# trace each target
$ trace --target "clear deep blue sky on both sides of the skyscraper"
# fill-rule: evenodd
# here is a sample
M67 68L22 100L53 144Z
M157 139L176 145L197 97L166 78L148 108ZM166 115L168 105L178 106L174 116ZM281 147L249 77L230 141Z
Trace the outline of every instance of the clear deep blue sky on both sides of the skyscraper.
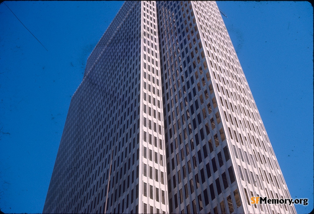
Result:
M16 19L11 11L45 48ZM0 4L0 208L41 213L71 96L123 2ZM217 2L290 194L313 209L313 8Z

